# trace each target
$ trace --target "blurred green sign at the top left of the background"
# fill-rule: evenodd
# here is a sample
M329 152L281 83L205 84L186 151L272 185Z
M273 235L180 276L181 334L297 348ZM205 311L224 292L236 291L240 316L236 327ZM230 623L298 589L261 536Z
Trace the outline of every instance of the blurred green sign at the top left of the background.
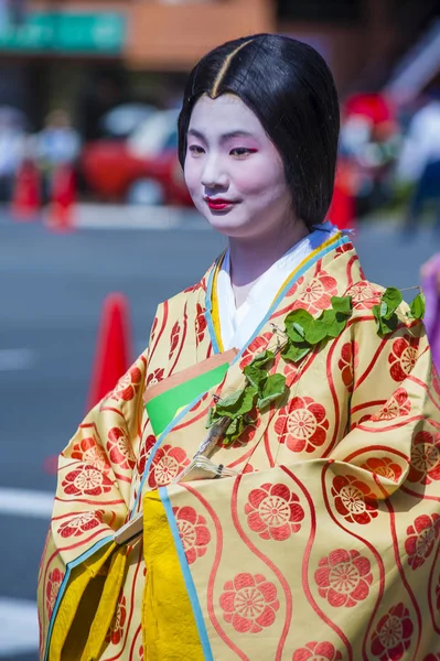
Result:
M121 52L125 17L117 13L34 12L21 25L0 30L1 51L94 53Z

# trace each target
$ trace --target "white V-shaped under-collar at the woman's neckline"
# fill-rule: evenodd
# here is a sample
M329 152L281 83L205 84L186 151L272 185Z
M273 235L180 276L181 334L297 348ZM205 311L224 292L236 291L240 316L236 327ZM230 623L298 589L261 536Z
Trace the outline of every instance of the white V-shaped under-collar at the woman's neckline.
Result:
M249 290L246 300L238 307L230 282L229 249L226 250L217 275L217 301L222 344L224 349L242 349L250 339L258 324L267 314L273 299L290 273L308 254L333 236L337 227L329 220L323 223L301 241L292 246L279 260L265 271Z

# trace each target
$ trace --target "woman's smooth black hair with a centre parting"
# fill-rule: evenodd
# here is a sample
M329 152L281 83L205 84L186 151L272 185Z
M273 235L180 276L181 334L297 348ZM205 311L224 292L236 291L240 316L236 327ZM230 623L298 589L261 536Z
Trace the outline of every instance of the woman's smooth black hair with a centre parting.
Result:
M333 76L308 44L278 34L229 41L207 53L186 83L179 116L184 167L191 112L206 94L239 97L281 155L293 212L311 228L325 220L334 185L340 109Z

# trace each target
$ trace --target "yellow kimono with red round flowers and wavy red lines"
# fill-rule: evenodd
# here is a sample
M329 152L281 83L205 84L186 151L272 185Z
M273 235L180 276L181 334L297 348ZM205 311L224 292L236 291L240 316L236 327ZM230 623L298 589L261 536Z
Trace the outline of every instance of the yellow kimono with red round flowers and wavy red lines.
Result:
M218 386L158 436L144 389L222 351L215 278L162 303L149 348L60 457L39 577L41 659L440 660L440 381L407 307L385 338L341 234L289 277ZM214 395L294 308L351 295L342 334L278 354L281 401L212 460L232 477L173 481ZM143 534L114 533L143 511Z

